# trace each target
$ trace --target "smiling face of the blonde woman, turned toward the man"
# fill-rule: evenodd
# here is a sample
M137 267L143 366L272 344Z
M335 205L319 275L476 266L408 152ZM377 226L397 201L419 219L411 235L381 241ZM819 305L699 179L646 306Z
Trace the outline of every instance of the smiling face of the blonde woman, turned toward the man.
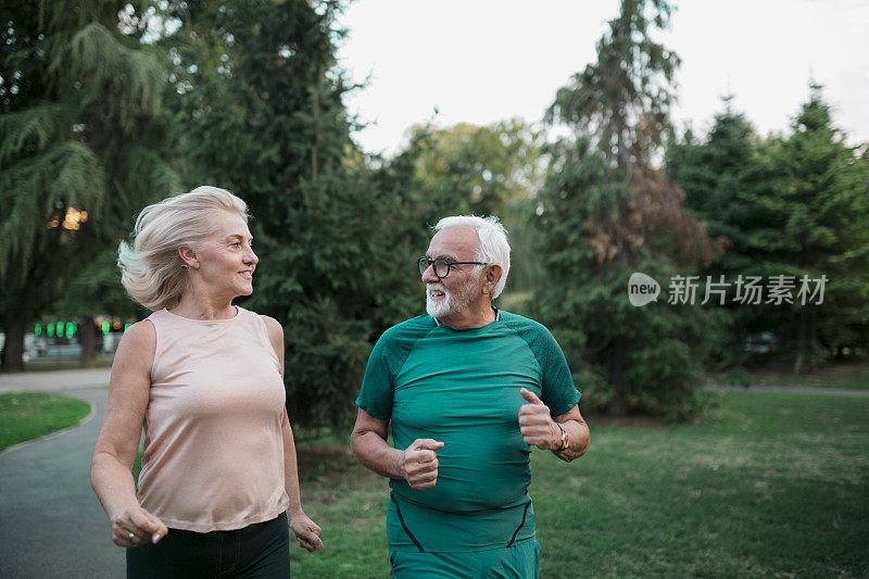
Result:
M215 214L216 230L199 252L199 275L205 286L230 299L253 293L253 270L260 259L253 252L251 231L238 213Z

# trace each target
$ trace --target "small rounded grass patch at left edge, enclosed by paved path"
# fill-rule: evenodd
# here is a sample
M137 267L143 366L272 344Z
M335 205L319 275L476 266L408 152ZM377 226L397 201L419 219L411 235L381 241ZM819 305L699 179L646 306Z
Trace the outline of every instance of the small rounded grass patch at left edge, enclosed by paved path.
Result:
M87 402L58 394L0 394L0 451L77 424L90 413Z

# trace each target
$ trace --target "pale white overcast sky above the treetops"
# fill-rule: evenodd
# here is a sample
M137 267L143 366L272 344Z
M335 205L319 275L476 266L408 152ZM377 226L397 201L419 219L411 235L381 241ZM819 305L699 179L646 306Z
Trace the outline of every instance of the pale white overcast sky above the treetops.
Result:
M824 86L833 122L869 141L869 0L673 2L657 35L682 59L671 118L705 135L732 93L760 135L788 133ZM392 154L414 124L539 122L555 92L595 60L618 0L355 0L339 20L339 65L366 88L345 98L369 126L354 139ZM437 111L437 114L436 114Z

